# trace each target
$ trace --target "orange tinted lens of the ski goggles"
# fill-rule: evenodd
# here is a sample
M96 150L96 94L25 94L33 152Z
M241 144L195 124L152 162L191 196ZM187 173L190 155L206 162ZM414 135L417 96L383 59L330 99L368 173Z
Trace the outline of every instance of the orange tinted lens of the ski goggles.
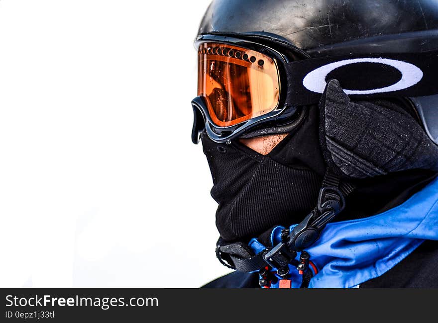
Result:
M217 126L232 126L277 107L280 80L272 58L219 43L202 43L198 56L198 95Z

